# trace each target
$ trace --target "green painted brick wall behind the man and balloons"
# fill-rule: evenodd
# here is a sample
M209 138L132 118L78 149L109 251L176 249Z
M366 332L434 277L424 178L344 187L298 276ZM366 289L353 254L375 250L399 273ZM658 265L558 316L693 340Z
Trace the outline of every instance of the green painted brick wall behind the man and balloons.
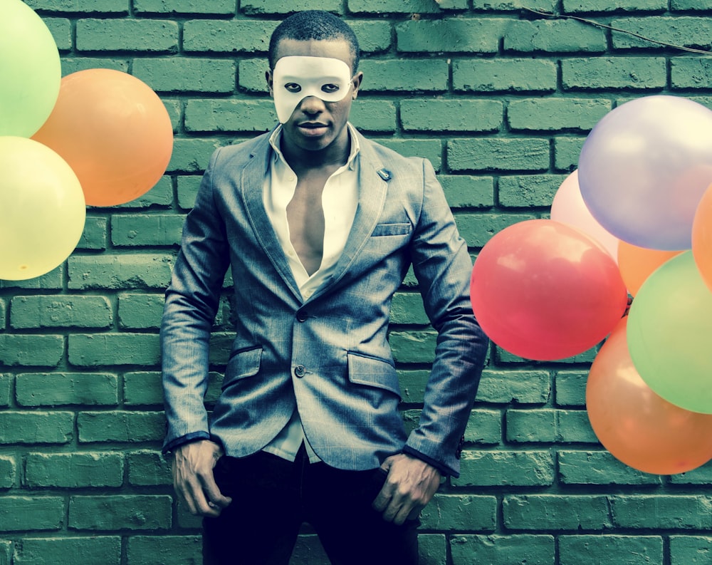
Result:
M199 519L177 504L159 452L162 293L211 152L273 125L266 48L287 14L350 22L365 73L352 121L433 162L473 257L508 225L547 216L587 133L619 103L666 93L712 108L712 56L676 47L710 49L706 0L26 3L64 75L132 73L164 100L175 140L150 192L88 209L61 266L0 281L0 565L200 565ZM231 343L222 304L208 405ZM410 427L435 338L411 274L390 333ZM712 465L661 477L604 450L585 411L594 356L531 363L491 347L461 477L422 516L425 565L712 563ZM292 565L326 563L304 527Z

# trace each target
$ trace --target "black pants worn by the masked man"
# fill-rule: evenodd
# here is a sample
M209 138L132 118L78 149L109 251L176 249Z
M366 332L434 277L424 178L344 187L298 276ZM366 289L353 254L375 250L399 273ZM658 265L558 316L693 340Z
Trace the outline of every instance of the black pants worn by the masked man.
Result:
M342 471L260 452L221 457L220 490L232 504L204 519L204 565L288 565L303 522L334 565L417 565L418 520L396 526L372 509L383 470Z

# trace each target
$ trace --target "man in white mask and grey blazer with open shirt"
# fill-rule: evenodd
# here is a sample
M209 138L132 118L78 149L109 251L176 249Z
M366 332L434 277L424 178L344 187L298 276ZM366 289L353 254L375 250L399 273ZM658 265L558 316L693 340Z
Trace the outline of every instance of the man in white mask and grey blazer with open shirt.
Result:
M166 294L163 383L174 486L204 516L205 564L287 564L309 522L335 564L417 563L417 517L459 470L487 338L471 260L434 170L348 123L362 73L336 16L270 43L280 124L216 150ZM412 264L439 332L419 426L387 343ZM236 336L209 420L208 341L226 269Z

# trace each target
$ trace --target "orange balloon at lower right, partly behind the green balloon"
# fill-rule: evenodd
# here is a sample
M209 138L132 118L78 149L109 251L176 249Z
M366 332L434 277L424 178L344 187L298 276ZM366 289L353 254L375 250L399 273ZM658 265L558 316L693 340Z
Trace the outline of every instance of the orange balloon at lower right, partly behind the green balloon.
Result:
M678 408L644 383L628 353L626 318L591 365L586 408L603 447L639 471L674 475L712 458L712 415Z

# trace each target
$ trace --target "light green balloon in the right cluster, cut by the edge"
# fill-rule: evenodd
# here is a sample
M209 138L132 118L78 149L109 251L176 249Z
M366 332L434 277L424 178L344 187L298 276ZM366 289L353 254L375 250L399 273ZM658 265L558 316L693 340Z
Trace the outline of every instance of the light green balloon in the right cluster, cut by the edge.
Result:
M627 336L635 368L655 393L712 414L712 292L691 251L646 279L630 308Z

